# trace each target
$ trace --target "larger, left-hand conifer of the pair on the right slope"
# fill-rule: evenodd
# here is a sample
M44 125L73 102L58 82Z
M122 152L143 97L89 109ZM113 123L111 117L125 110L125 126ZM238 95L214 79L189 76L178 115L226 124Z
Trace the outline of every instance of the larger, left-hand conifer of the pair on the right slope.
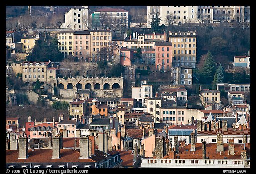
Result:
M208 53L206 54L204 66L200 73L200 81L202 83L212 83L215 72L216 72L216 63L212 56L212 53L208 51Z

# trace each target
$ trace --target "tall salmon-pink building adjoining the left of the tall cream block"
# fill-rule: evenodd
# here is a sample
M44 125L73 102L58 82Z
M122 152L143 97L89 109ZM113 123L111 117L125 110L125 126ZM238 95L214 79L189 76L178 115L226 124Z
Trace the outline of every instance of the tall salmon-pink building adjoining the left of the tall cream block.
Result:
M170 70L172 67L172 43L155 43L155 65L157 70Z

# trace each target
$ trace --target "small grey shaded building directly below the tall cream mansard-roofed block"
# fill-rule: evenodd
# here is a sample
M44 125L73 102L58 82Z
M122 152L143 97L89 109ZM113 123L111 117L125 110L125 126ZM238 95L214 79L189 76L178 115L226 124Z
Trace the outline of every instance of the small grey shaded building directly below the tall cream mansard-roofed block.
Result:
M192 85L193 69L188 66L177 66L171 68L172 85Z

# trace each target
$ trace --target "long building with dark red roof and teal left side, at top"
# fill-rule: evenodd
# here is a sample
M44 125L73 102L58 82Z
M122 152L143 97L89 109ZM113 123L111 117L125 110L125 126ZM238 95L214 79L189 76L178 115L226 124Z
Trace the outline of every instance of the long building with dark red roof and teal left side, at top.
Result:
M105 28L127 28L128 11L121 8L101 8L91 15L95 27Z

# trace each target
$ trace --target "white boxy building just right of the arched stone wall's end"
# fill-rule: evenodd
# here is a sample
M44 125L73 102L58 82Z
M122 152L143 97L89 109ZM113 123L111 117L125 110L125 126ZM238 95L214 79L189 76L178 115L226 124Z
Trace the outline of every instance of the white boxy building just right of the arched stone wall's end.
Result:
M153 85L132 87L132 98L136 99L139 107L146 106L148 98L153 97Z

